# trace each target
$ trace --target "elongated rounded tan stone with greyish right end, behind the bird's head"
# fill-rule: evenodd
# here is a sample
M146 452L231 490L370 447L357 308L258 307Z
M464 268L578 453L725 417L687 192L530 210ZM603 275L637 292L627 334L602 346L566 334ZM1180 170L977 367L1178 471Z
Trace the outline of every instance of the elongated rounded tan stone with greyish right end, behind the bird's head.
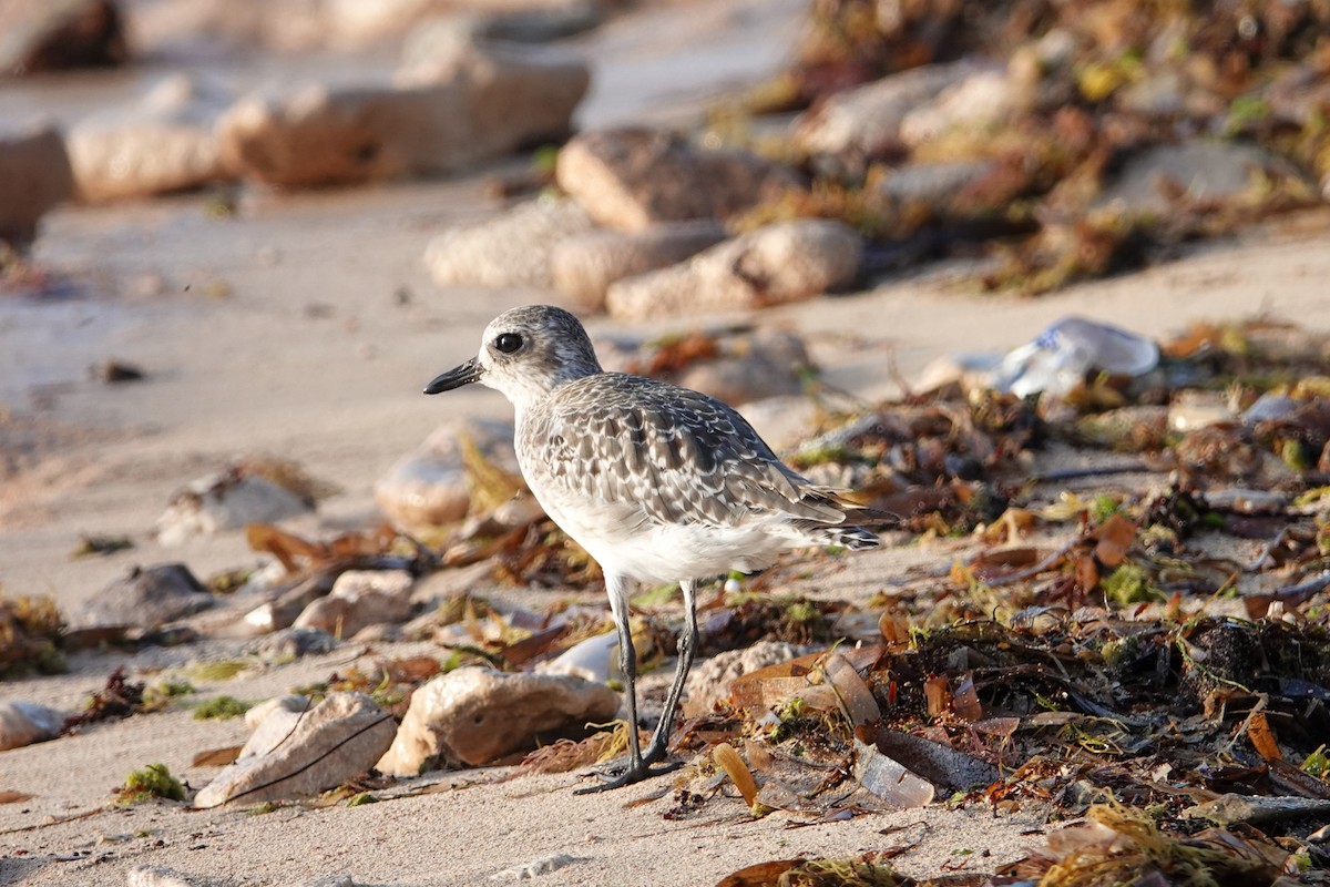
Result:
M863 242L847 225L782 222L618 281L605 303L614 318L637 322L797 302L849 285L862 257Z

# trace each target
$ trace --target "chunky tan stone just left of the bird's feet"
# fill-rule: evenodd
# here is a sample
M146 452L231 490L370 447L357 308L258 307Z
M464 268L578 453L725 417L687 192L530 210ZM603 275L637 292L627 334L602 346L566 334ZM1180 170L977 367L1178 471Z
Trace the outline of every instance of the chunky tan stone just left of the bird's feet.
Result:
M378 769L414 777L440 757L480 766L535 747L539 737L555 730L608 721L617 710L618 694L604 684L460 668L411 694L411 707Z

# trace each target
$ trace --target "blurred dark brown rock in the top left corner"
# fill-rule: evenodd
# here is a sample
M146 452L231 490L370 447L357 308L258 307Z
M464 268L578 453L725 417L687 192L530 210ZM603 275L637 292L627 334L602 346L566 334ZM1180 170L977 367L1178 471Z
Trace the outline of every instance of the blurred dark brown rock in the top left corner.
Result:
M129 61L125 21L114 0L17 0L0 16L0 77Z

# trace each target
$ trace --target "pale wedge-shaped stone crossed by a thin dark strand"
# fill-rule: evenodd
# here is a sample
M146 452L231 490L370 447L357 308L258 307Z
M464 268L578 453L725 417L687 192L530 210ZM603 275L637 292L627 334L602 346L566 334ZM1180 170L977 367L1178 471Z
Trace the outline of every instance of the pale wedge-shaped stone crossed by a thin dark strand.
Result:
M330 693L301 713L275 707L194 807L313 797L372 767L394 731L392 717L363 693Z

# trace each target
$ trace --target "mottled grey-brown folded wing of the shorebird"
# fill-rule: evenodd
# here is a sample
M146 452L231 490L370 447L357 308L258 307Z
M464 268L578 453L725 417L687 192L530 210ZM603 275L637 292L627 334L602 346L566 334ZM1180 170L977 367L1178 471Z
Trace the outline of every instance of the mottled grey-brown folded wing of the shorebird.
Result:
M730 407L650 379L602 374L529 418L545 483L661 523L733 527L754 515L839 524L841 501L786 468Z

